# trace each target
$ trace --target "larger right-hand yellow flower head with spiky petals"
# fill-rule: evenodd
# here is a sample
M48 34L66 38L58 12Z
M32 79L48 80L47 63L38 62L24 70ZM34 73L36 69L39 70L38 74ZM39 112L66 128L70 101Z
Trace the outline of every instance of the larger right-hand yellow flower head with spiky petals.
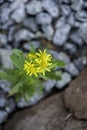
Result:
M41 50L39 50L38 53L36 53L37 55L37 59L35 60L36 63L39 65L37 70L39 73L42 73L43 75L45 75L45 71L50 71L49 67L50 65L52 65L51 63L51 55L46 53L46 50L44 50L43 52Z

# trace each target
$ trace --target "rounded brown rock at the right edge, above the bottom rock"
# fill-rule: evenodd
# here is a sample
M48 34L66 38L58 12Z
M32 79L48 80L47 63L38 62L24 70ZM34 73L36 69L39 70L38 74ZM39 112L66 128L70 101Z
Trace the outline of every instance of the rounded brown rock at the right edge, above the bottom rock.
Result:
M76 118L87 119L87 68L70 83L64 93L64 101Z

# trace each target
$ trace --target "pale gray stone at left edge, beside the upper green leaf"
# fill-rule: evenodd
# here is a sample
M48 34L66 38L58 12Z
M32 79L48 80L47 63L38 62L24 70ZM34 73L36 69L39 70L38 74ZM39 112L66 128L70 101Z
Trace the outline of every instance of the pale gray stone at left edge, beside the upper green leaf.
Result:
M10 55L12 54L11 50L0 49L0 62L4 68L13 68Z

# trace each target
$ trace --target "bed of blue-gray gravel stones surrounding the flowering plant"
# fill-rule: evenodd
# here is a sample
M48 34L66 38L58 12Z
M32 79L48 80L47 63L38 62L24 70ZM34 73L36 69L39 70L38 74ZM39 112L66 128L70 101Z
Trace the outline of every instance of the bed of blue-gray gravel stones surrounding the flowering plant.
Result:
M63 90L87 65L87 1L0 0L0 65L3 68L12 68L9 58L12 49L19 48L24 52L29 52L29 42L32 42L36 49L50 45L50 53L66 63L64 68L59 68L63 72L62 80L45 82L44 93L40 97L36 93L28 103L23 99L16 103L14 97L7 98L10 83L0 80L1 125L14 111L35 105L52 92L53 88L56 88L58 92ZM85 90L85 87L83 88ZM71 93L74 92L71 90ZM83 95L80 98L79 95L77 96L84 100ZM67 95L66 98L69 99L69 96ZM74 101L74 97L72 98ZM72 111L75 110L75 106L67 102L66 106L70 106ZM59 105L59 109L60 107ZM70 123L74 125L76 120L74 118L70 120L68 125ZM80 127L80 123L77 124ZM81 124L84 126L82 130L85 130L85 124L83 122Z

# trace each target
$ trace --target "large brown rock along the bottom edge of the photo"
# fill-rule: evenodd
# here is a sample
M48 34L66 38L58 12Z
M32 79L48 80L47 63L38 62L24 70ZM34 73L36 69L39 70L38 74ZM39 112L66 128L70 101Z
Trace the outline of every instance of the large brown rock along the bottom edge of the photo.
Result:
M68 114L62 95L57 94L14 114L4 130L87 130L87 122L78 121L73 116L65 120Z

